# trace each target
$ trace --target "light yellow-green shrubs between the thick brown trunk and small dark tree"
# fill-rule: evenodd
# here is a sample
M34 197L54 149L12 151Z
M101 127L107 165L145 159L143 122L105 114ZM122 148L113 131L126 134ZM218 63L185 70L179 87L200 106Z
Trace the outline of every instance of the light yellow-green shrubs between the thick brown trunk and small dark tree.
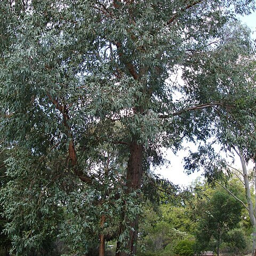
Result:
M183 191L175 197L176 201L184 202ZM139 225L139 245L146 252L173 255L173 247L180 240L191 237L194 223L190 220L187 210L185 205L173 206L172 202L159 205L155 211L150 205L145 207Z

